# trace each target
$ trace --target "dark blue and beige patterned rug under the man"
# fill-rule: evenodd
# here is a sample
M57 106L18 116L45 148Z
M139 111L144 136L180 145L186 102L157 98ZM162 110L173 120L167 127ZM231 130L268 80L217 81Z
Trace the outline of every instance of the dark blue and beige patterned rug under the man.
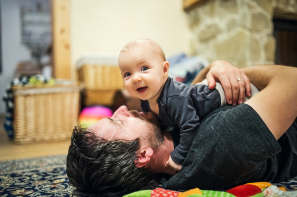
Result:
M274 184L297 190L297 177ZM151 181L143 190L162 187ZM66 156L27 158L0 161L0 197L86 197L69 185L66 175Z

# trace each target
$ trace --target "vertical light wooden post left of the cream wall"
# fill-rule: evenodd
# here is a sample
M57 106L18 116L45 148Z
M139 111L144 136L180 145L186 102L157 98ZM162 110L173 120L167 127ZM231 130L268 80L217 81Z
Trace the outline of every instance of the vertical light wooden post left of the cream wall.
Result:
M53 76L71 79L70 0L52 0Z

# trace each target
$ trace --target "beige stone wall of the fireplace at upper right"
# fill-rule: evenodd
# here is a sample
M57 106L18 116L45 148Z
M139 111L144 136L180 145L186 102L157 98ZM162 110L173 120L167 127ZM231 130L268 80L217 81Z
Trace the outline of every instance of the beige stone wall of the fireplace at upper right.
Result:
M297 15L296 0L207 0L188 11L191 55L237 67L273 64L273 15Z

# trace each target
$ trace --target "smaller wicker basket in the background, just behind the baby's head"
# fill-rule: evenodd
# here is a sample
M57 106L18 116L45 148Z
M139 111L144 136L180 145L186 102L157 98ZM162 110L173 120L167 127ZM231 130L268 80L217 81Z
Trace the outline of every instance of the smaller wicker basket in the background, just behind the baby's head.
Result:
M124 88L118 66L85 64L78 70L79 80L84 81L89 90L115 90Z

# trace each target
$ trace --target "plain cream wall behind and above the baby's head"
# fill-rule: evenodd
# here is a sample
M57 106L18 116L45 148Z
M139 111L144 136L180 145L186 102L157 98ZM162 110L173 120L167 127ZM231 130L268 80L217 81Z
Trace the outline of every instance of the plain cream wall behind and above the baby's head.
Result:
M189 34L182 0L71 0L72 72L82 55L118 54L134 39L155 40L166 57L188 53Z

